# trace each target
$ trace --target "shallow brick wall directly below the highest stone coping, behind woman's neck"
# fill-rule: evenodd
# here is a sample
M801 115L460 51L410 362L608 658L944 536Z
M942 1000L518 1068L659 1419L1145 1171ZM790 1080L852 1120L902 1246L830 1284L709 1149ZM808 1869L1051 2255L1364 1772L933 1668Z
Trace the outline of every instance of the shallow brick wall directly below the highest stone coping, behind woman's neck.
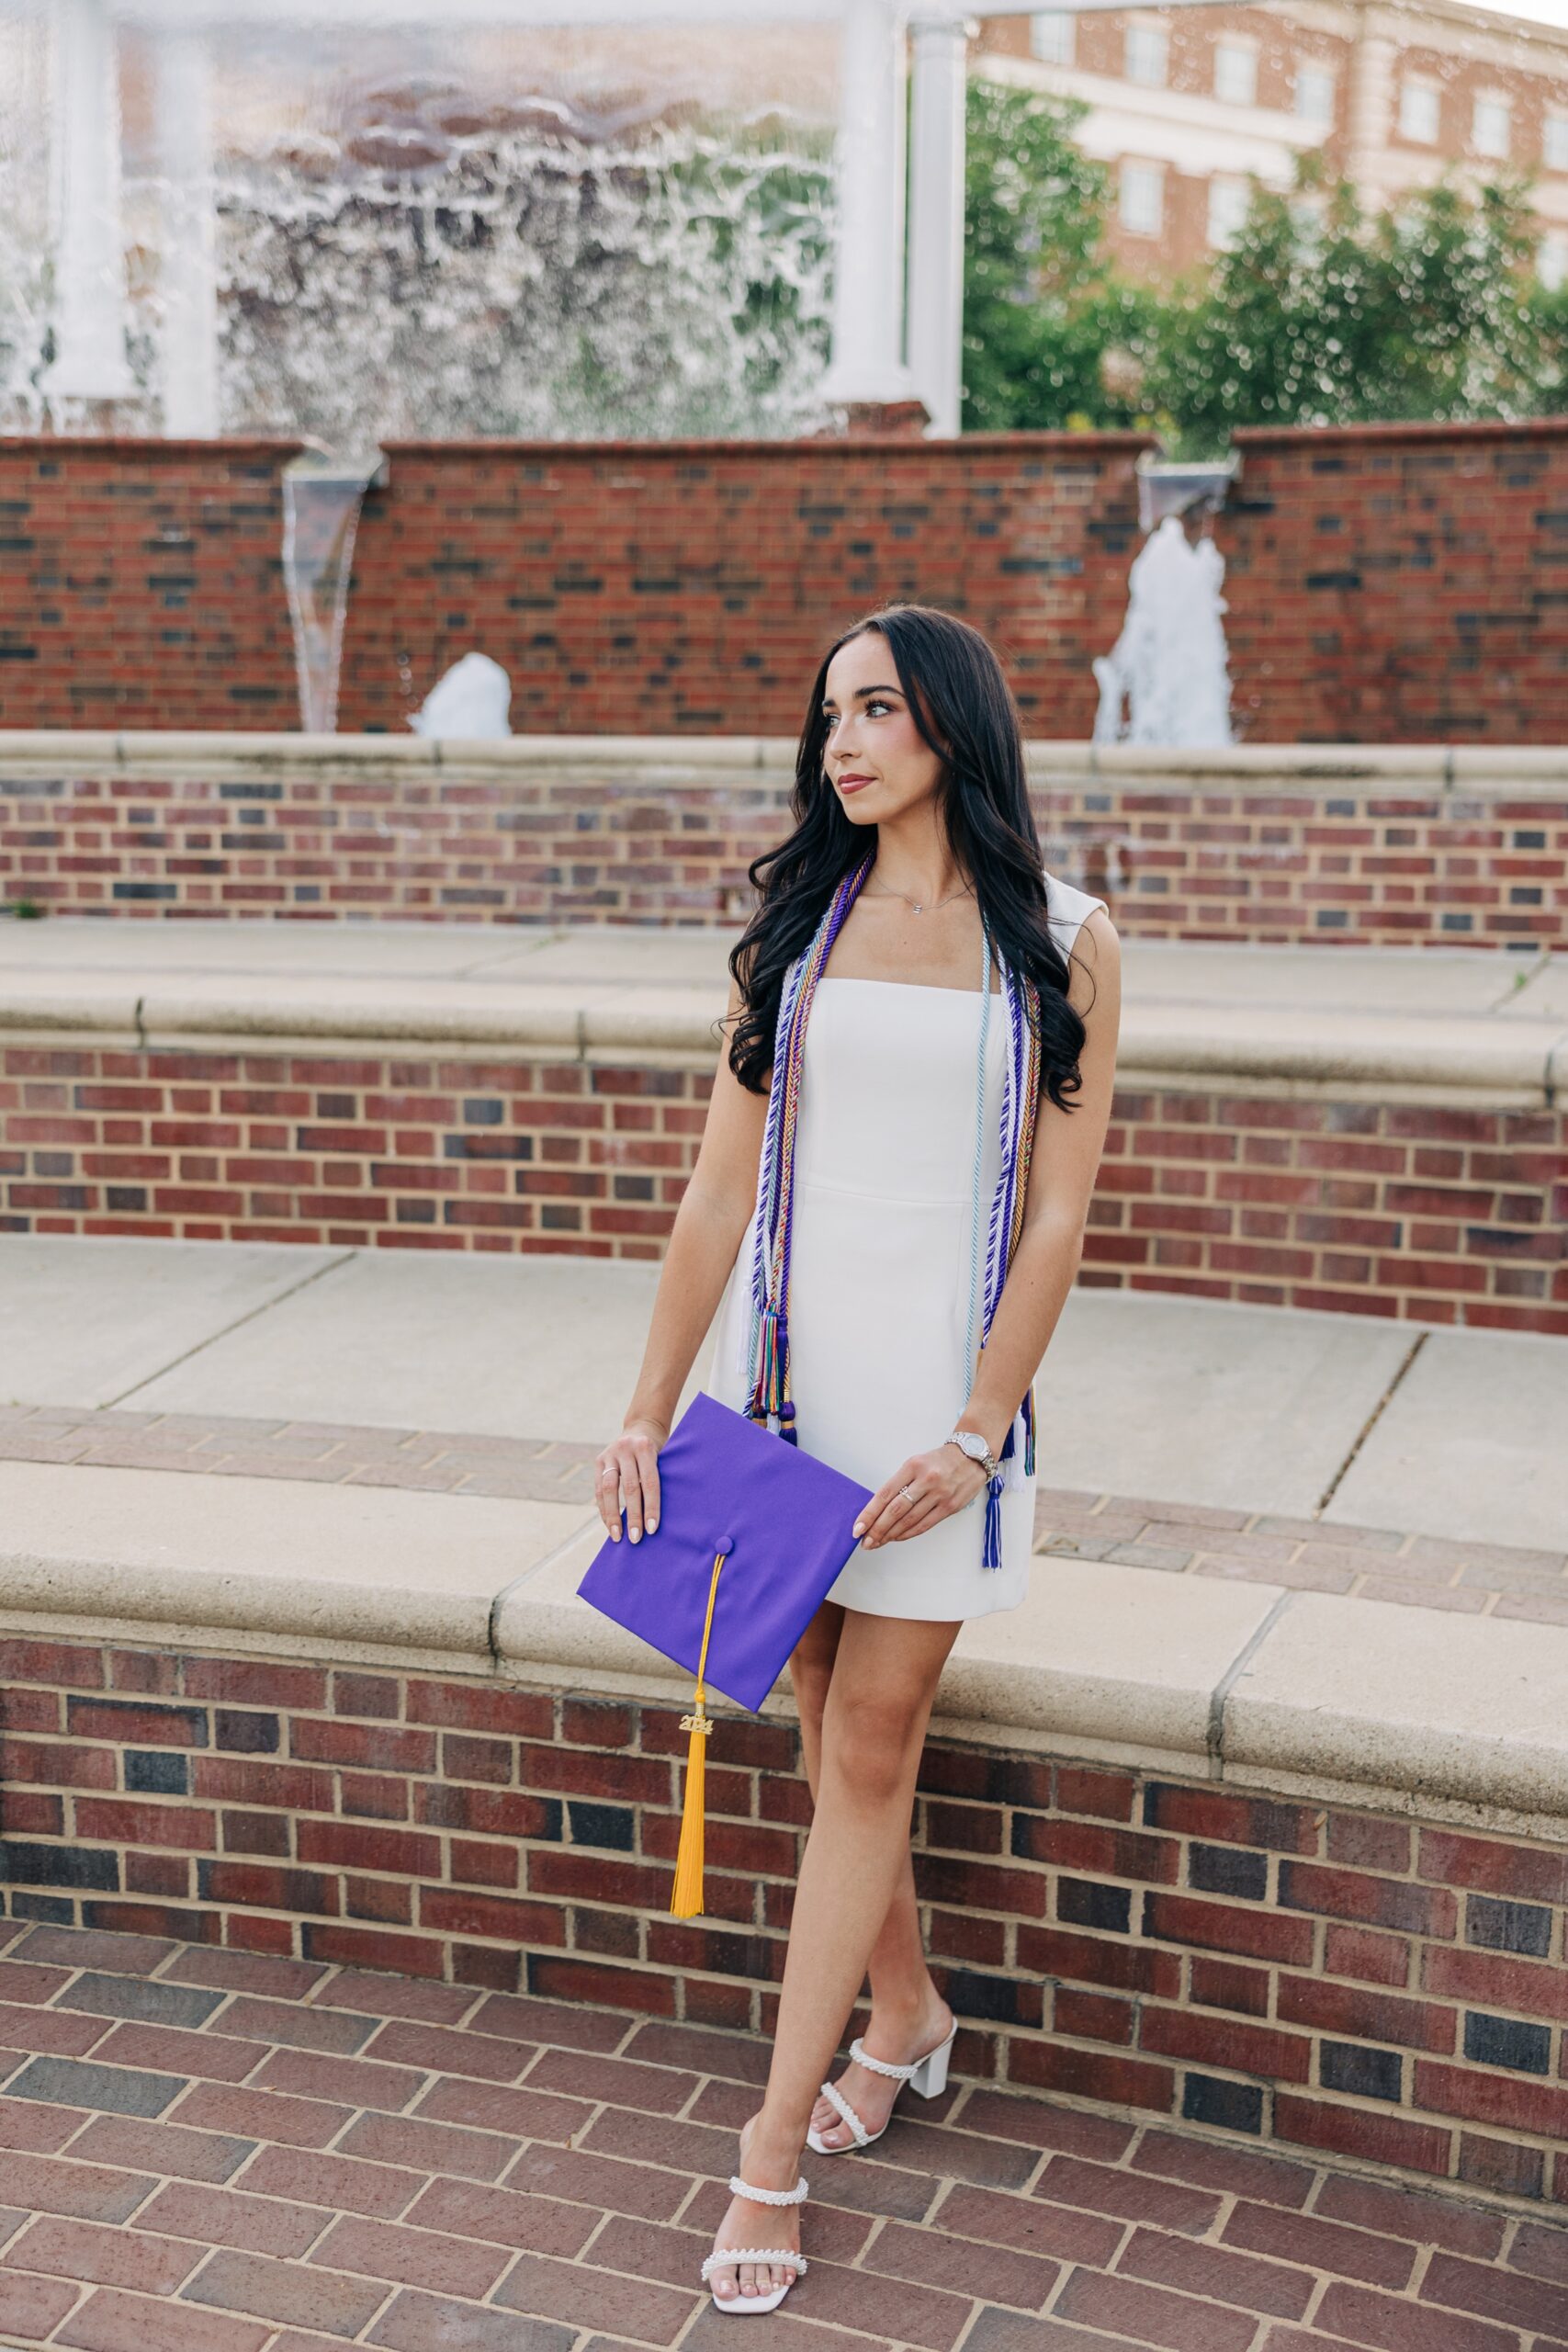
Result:
M2 753L2 746L0 746ZM1041 779L1056 873L1135 938L1563 946L1556 783L1335 776ZM0 779L0 901L56 915L722 922L788 833L757 769L289 767L179 776L92 760Z

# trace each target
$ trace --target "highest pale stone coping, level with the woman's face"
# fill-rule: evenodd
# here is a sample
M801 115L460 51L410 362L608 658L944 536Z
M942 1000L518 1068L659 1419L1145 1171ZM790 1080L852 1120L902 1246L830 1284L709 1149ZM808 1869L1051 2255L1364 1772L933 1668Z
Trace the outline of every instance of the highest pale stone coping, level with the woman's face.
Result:
M1225 750L1152 750L1133 743L1032 741L1030 774L1105 783L1211 783L1229 790L1298 793L1347 786L1401 786L1460 800L1561 800L1568 746L1559 743L1232 743ZM668 781L733 783L755 776L783 788L795 771L795 736L555 736L430 741L416 734L270 734L200 729L75 727L0 729L0 783L56 776L266 776L315 774L646 774Z

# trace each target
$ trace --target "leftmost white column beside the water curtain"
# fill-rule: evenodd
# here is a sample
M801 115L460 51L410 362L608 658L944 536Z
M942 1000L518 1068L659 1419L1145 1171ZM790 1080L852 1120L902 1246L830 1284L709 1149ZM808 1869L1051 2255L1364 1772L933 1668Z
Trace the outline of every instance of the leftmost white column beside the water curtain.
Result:
M120 61L108 0L52 0L54 400L125 400Z

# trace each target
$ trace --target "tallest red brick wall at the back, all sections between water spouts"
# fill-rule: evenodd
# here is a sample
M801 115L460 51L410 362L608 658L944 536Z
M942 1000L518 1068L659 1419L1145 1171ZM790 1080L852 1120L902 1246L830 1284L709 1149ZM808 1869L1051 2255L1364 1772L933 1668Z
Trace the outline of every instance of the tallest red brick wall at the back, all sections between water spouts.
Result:
M994 635L1086 734L1138 546L1135 435L397 445L355 553L346 729L508 666L520 731L771 734L884 597ZM1258 741L1568 739L1568 419L1246 433L1220 517ZM0 724L299 722L282 445L0 440Z

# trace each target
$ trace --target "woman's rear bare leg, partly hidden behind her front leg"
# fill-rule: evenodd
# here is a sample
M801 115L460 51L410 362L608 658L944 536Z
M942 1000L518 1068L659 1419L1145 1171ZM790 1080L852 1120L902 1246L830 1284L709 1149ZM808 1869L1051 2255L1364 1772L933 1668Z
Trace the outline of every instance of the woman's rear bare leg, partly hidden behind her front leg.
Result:
M813 1797L820 1780L823 1708L827 1705L827 1686L832 1682L842 1628L844 1609L839 1609L837 1602L823 1602L795 1656L790 1658L806 1780L811 1783ZM926 1966L926 1947L922 1943L919 1910L914 1900L914 1863L910 1858L907 1842L898 1870L898 1884L893 1886L893 1900L889 1903L886 1919L882 1922L877 1943L872 1945L867 1973L872 1980L872 2016L865 2027L867 2051L872 2058L889 2058L893 2065L907 2065L910 2058L924 2058L924 2053L936 2049L936 2044L945 2037L952 2025L952 2011L936 1990L931 1969ZM851 2060L839 2077L839 2089L865 2129L882 2131L893 2112L898 2084L891 2082L891 2077L872 2074L867 2067ZM846 2147L853 2140L849 2124L825 2098L818 2098L811 2112L811 2124L818 2138L827 2140L830 2147Z

